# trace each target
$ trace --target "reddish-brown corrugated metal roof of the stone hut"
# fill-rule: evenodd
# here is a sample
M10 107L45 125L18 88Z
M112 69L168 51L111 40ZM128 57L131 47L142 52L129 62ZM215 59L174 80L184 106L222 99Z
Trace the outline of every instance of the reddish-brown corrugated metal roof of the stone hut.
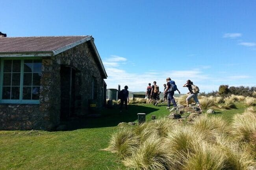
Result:
M90 36L2 37L0 52L54 51Z

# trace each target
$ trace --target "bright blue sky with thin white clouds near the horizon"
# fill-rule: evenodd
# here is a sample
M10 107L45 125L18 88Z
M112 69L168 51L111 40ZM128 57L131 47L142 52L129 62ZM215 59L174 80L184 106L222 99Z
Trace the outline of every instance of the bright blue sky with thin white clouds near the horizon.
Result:
M93 35L108 88L256 86L256 1L0 0L8 37Z

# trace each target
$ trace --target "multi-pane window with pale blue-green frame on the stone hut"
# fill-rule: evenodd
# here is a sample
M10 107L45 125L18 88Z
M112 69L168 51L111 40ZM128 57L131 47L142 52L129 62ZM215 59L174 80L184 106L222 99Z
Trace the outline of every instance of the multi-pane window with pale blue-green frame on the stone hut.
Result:
M1 59L0 102L39 103L41 59Z

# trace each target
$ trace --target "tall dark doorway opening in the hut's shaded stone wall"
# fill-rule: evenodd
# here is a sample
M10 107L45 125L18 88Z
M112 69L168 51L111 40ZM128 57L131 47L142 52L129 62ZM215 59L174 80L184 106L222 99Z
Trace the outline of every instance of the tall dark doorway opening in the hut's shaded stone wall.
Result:
M61 121L72 117L75 113L75 75L76 70L74 68L61 65Z

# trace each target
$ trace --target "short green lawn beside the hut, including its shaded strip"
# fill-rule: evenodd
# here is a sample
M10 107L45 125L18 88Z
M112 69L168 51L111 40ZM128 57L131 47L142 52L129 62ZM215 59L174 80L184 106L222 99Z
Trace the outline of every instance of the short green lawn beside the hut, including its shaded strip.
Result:
M237 109L216 110L227 121L245 106ZM166 105L136 104L128 112L117 106L100 111L102 117L68 122L69 131L0 131L0 170L118 170L125 169L115 154L102 151L119 122L137 121L137 113L156 118L169 115Z

